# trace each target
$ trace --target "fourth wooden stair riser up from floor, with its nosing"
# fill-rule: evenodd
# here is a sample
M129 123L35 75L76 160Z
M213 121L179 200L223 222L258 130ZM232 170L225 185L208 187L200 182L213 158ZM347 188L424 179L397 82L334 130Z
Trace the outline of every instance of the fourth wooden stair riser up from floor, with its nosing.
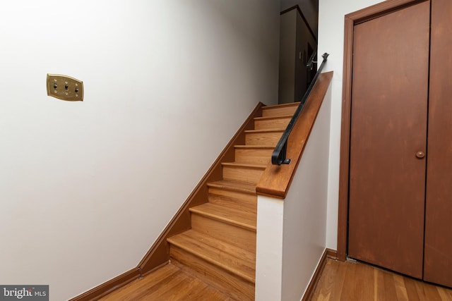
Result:
M223 180L232 180L257 184L267 164L224 162L222 163Z

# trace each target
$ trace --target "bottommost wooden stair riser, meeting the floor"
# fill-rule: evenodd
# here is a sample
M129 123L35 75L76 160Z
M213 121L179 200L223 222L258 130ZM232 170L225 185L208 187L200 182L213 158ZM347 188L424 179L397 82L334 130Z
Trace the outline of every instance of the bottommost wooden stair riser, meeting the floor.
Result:
M172 257L172 264L189 274L196 275L234 300L254 300L254 283L236 277L179 247L172 246L169 256Z

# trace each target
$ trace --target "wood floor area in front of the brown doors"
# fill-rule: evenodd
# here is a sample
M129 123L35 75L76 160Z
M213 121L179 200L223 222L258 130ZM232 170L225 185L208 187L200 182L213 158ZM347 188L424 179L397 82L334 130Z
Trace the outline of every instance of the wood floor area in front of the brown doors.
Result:
M359 262L328 259L315 301L452 301L452 290Z

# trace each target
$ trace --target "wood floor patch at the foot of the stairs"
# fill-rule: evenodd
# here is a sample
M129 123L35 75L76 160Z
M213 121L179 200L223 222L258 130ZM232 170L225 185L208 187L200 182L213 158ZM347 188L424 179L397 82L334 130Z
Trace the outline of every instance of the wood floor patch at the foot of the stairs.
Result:
M102 301L169 301L212 300L232 301L215 288L186 274L177 266L167 264L161 269L136 281L124 285L113 293L102 297Z

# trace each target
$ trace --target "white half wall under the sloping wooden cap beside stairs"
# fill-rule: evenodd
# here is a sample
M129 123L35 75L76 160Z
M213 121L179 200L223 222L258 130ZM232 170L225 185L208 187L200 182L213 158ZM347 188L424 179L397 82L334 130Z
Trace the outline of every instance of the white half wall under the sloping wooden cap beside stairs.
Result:
M325 250L328 89L284 200L258 196L256 300L301 300Z

